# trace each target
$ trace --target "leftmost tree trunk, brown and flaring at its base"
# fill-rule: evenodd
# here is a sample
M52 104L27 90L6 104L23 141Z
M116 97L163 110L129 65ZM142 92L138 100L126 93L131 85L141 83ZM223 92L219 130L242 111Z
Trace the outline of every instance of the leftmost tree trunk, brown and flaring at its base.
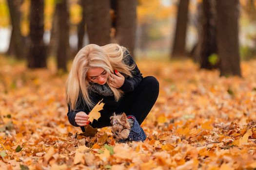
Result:
M23 59L25 58L25 48L22 42L22 35L20 32L20 5L22 4L21 0L7 0L9 6L9 12L12 23L12 35L9 45L8 54L11 54L12 51L15 54L16 58Z

